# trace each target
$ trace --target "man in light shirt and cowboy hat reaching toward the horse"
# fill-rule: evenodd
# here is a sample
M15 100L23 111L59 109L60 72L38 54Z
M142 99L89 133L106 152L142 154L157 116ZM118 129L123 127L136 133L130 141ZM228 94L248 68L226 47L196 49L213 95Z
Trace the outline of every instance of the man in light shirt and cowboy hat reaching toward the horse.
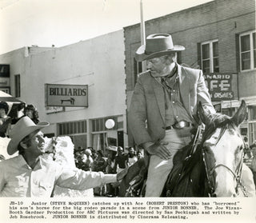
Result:
M30 117L22 117L10 131L7 152L17 157L0 162L0 197L50 197L54 185L70 189L89 189L116 182L126 174L103 174L82 169L62 168L41 155L45 141L41 129L49 125L37 125Z

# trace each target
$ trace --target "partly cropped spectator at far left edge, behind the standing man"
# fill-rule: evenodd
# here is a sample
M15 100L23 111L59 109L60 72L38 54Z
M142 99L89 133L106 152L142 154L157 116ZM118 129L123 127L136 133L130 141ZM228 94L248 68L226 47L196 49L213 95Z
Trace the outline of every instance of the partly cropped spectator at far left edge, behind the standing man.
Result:
M6 137L10 130L11 118L7 115L8 111L8 104L0 102L0 137Z

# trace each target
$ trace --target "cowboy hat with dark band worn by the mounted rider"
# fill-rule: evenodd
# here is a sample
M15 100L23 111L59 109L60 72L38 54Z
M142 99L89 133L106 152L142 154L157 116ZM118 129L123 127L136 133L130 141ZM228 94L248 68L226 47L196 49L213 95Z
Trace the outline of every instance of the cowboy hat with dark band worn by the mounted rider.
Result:
M170 34L151 34L146 38L146 45L138 48L135 58L138 62L142 62L182 50L185 50L185 47L174 45Z

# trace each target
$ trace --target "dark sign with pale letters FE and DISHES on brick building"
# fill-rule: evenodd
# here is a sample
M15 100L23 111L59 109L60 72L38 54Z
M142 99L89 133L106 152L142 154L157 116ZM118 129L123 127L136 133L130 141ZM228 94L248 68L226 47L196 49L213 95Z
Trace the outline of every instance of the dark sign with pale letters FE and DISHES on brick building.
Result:
M204 74L206 86L213 102L234 99L232 90L232 74Z

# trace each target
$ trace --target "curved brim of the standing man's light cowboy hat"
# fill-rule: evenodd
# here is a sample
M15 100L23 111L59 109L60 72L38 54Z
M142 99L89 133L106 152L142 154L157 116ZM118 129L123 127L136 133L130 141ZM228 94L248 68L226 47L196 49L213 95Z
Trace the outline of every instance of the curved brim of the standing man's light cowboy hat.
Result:
M29 126L27 127L25 130L23 130L20 134L15 135L14 137L11 138L8 146L7 146L7 153L9 155L13 155L14 153L17 152L17 147L18 147L18 143L20 141L22 141L22 139L26 136L28 136L30 133L33 133L36 130L40 130L45 128L46 126L50 125L49 122L46 121L42 121L39 122L38 125L33 125L33 126Z

